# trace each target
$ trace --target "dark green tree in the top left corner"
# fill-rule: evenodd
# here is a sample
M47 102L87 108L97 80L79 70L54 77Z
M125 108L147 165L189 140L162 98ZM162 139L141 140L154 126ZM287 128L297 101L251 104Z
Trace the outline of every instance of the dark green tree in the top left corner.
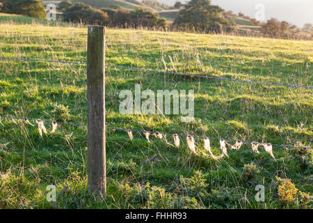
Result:
M41 0L4 1L3 13L26 15L29 17L46 18L47 13Z

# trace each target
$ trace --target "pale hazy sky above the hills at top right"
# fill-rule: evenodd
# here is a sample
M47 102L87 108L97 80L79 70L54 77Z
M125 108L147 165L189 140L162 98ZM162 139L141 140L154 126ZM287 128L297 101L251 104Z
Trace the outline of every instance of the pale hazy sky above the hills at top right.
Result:
M158 0L160 2L174 4L176 0ZM265 6L265 19L275 17L296 24L300 28L305 23L313 23L313 0L211 0L225 10L234 13L243 13L255 17L255 6L263 3ZM185 2L182 0L182 2Z

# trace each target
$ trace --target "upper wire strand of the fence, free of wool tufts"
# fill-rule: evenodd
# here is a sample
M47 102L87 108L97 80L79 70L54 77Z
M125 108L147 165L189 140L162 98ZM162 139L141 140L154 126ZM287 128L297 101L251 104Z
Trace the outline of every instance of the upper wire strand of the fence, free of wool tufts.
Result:
M82 62L74 62L74 61L53 61L53 60L42 60L42 59L24 59L24 58L10 58L10 57L0 57L0 59L6 59L6 60L15 60L15 61L35 61L35 62L47 62L47 63L72 63L72 64L78 64L78 65L88 65L88 63L82 63ZM268 82L254 82L254 81L248 81L248 80L242 80L242 79L232 79L232 78L226 78L226 77L212 77L212 76L204 76L204 75L192 75L192 74L185 74L185 73L179 73L179 72L169 72L164 70L151 70L151 69L145 69L145 68L129 68L125 66L115 66L115 65L106 65L106 67L110 68L119 68L123 70L136 70L136 71L143 71L143 72L157 72L157 73L163 73L168 75L179 75L179 76L185 76L185 77L199 77L204 79L218 79L218 80L226 80L231 82L242 82L246 84L264 84L264 85L271 85L271 86L287 86L287 87L293 87L293 88L303 88L303 89L313 89L313 86L300 86L295 84L279 84L279 83L268 83Z

